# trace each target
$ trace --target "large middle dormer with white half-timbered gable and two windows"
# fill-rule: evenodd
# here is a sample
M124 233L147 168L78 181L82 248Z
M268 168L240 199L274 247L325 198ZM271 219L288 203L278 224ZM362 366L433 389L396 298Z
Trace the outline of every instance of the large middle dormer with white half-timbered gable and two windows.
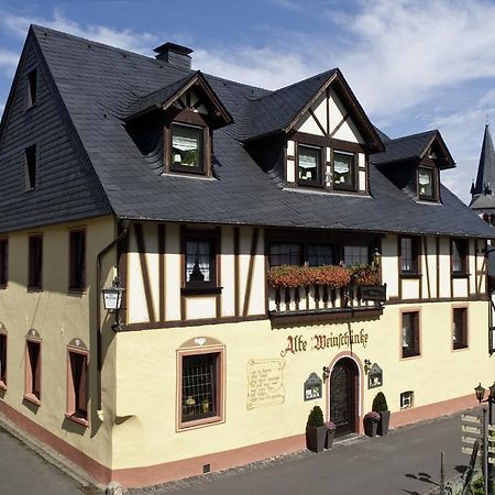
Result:
M254 156L256 146L263 148L261 160L267 147L285 145L278 168L286 186L369 193L369 155L384 146L339 69L282 88L253 106L245 142Z

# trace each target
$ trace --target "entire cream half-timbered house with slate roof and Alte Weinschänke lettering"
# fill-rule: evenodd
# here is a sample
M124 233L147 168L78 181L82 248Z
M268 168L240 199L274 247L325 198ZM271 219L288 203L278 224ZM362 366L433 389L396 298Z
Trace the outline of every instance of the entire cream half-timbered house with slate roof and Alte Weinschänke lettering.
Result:
M135 486L304 448L315 405L338 435L378 391L396 426L474 405L493 230L441 185L440 133L388 139L339 69L267 91L156 52L30 29L0 127L0 411Z

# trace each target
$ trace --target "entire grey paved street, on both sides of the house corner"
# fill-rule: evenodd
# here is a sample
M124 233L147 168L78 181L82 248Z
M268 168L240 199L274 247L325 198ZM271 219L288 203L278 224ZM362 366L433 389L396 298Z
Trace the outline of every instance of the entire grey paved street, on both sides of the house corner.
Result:
M316 455L299 452L253 468L212 473L141 494L204 495L418 495L435 487L440 452L448 475L462 471L469 458L460 452L460 416L360 437ZM79 485L0 429L2 495L81 494Z

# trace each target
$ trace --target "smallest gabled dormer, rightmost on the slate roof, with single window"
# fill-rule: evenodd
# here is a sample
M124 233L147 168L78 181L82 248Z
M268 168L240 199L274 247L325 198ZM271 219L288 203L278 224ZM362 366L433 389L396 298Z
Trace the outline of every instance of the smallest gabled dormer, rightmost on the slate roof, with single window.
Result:
M398 138L385 145L386 151L374 155L372 163L411 199L441 202L440 170L453 168L455 163L440 132Z

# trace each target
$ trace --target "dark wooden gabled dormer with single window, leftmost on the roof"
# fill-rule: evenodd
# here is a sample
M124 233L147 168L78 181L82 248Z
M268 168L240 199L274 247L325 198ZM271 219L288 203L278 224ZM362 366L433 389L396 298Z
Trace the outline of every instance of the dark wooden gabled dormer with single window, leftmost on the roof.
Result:
M198 70L135 101L128 129L163 174L211 176L212 133L232 117Z

